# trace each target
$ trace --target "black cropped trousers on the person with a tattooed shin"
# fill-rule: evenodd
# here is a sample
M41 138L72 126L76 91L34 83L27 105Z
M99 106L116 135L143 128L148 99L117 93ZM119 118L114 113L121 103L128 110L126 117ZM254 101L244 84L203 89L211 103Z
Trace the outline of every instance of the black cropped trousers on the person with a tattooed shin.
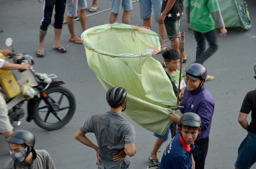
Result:
M62 29L66 0L44 0L44 14L41 20L40 29L46 31L52 19L52 12L55 5L54 28Z

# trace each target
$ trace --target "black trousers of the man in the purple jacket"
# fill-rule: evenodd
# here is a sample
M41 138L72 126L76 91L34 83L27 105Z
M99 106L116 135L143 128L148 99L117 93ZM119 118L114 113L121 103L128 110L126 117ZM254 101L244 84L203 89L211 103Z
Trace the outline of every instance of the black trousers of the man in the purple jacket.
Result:
M195 149L192 152L196 162L196 169L204 169L205 159L208 152L209 136L205 139L195 141Z

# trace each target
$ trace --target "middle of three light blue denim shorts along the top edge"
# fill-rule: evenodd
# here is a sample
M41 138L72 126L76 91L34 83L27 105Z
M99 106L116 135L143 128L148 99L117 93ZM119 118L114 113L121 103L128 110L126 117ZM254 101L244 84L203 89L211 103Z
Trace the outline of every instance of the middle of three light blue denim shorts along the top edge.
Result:
M123 6L124 11L132 10L132 0L111 0L112 12L119 14L121 5Z

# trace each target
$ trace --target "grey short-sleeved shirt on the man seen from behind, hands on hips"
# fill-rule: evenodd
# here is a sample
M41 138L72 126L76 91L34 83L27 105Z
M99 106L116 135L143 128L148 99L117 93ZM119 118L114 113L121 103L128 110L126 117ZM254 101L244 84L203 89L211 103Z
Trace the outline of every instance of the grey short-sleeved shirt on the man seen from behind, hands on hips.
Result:
M98 143L102 165L100 169L127 169L130 161L127 156L117 163L112 158L125 144L135 143L135 130L132 124L116 112L97 113L86 120L80 127L84 133L94 133Z

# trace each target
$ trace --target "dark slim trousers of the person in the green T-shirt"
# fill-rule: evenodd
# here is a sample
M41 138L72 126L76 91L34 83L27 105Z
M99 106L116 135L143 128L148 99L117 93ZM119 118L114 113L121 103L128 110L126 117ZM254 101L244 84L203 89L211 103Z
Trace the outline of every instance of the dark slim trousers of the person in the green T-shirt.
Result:
M197 42L195 63L203 64L206 59L208 59L218 50L217 37L214 30L206 33L201 33L194 30L194 36ZM209 42L209 48L206 51L205 39Z

